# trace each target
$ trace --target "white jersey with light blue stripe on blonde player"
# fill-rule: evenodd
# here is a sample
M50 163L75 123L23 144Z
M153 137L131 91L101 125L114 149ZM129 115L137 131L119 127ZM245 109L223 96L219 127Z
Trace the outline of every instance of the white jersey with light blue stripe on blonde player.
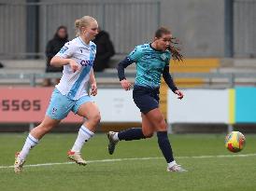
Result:
M75 73L69 64L64 65L63 76L56 88L68 98L78 100L88 94L89 79L96 54L96 45L91 41L85 44L78 36L65 43L64 47L56 54L64 59L72 59L81 65L81 69Z

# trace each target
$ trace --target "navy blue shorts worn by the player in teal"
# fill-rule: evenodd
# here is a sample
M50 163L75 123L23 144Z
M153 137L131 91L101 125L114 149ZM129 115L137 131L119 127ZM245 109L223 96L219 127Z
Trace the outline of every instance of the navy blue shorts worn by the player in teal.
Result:
M133 98L140 112L147 114L159 107L159 88L148 88L135 85Z

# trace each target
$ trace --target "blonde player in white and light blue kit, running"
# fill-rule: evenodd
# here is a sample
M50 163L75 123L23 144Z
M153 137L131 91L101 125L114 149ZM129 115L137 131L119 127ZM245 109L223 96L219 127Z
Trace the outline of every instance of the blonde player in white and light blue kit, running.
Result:
M78 131L78 138L67 156L76 163L86 165L80 151L85 142L94 134L100 122L100 112L97 105L88 95L87 89L91 84L91 94L97 94L96 80L92 65L96 54L96 46L92 40L98 34L98 23L90 16L84 16L75 22L78 37L67 42L52 58L53 66L64 66L63 76L52 92L50 105L46 116L35 129L29 133L21 152L15 157L14 171L21 172L25 158L31 148L50 130L56 127L70 111L78 116L86 117Z

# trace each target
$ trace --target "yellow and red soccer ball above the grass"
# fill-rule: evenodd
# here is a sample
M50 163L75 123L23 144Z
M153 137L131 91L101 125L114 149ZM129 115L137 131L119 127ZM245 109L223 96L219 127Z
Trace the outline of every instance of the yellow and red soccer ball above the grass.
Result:
M241 151L245 143L246 137L239 131L232 131L225 138L226 148L233 153Z

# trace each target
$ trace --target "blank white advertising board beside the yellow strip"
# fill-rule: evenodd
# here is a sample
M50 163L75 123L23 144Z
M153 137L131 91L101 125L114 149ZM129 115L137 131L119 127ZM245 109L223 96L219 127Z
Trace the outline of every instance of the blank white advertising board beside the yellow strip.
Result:
M178 100L168 91L168 123L228 123L228 89L186 89L184 95Z

